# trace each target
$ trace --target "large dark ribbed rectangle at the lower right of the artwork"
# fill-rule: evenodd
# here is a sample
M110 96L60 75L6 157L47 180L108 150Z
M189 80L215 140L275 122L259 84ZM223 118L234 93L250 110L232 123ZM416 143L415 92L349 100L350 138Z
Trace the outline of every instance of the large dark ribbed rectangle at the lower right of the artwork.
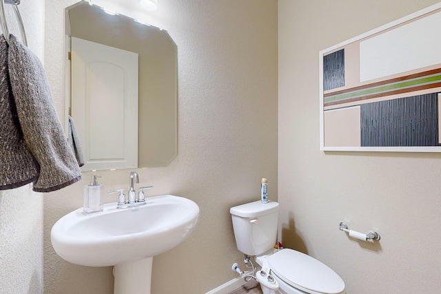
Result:
M362 147L440 146L438 93L360 106Z

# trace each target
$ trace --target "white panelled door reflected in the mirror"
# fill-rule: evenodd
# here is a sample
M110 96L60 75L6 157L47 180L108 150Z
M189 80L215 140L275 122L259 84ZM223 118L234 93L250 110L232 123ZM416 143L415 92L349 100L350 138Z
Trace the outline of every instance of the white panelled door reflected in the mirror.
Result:
M84 170L138 165L138 54L72 37L72 118Z

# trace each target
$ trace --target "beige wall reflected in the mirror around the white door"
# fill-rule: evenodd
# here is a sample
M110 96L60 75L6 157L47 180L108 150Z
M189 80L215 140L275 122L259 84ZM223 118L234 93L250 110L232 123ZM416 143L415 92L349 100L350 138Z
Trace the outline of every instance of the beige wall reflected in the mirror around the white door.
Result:
M170 34L123 14L107 14L88 1L79 1L65 10L66 65L70 65L67 52L71 50L71 37L138 54L138 112L133 113L138 116L137 167L170 165L178 154L178 48ZM75 102L70 91L70 66L66 66L65 73L66 105L70 106L71 100ZM69 107L65 107L66 116L69 112ZM116 165L87 166L81 170L122 169Z

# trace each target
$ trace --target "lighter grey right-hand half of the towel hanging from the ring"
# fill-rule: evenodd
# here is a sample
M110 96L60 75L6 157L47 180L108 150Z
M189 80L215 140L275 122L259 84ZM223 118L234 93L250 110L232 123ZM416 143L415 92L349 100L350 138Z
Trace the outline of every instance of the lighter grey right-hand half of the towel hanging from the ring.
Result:
M8 69L23 138L39 164L39 176L32 189L55 191L81 180L81 171L63 134L43 65L12 34Z

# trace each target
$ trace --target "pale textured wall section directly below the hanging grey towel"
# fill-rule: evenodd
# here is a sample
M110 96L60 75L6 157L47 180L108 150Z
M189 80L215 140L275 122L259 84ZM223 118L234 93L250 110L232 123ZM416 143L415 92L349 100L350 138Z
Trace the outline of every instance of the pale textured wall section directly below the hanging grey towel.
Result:
M0 191L0 293L43 293L43 194Z

